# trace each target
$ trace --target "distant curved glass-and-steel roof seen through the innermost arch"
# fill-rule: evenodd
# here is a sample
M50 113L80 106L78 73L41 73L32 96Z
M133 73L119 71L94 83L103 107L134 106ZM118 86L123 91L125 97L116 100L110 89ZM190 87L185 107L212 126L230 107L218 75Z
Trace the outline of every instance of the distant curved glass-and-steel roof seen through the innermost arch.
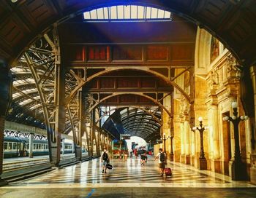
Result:
M145 108L148 113L135 107L119 108L109 116L102 128L115 134L116 138L120 134L129 134L147 142L156 142L160 138L161 110L157 106Z

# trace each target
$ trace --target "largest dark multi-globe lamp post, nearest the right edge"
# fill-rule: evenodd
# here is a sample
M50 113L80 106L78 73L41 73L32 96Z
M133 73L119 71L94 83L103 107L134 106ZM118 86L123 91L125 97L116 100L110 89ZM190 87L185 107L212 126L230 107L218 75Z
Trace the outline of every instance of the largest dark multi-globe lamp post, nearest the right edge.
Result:
M225 116L223 117L223 121L232 122L234 127L234 138L235 138L235 156L233 158L233 162L231 162L231 178L232 180L244 180L246 177L246 168L245 165L241 161L240 154L240 143L239 143L239 122L248 119L248 116L238 116L238 103L233 101L231 103L233 108L233 116Z

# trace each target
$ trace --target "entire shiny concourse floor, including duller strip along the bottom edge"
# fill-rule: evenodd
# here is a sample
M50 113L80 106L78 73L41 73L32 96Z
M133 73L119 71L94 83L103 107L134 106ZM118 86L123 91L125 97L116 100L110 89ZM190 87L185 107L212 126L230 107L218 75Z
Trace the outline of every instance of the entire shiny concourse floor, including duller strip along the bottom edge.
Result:
M231 197L236 197L241 192L244 192L245 197L246 193L249 193L249 197L254 197L254 195L256 197L256 186L249 182L230 181L227 176L209 171L199 171L194 167L179 163L168 163L167 166L173 170L172 177L160 176L157 162L154 162L152 158L148 159L146 166L141 166L139 159L127 159L127 161L115 159L111 164L113 170L108 170L106 174L102 173L99 159L57 169L37 178L1 187L0 197L15 197L22 191L29 194L30 197L39 195L46 197L47 194L50 197L57 191L60 194L56 194L55 197L65 197L71 191L74 193L70 194L71 197L136 197L139 195L157 197L157 191L159 194L162 194L163 191L172 191L178 197L186 195L182 192L189 192L190 195L197 193L198 195L200 192L207 194L208 191L216 192L216 194L211 194L211 197L219 197L219 195L225 197L225 194L222 194L225 192L228 196L231 193ZM243 189L238 190L238 188ZM105 190L103 191L103 189ZM45 193L37 194L37 191ZM64 191L66 194L63 194ZM101 191L102 194L100 194ZM142 191L143 194L141 194ZM181 192L180 195L178 195L178 191ZM170 193L164 195L170 197Z

